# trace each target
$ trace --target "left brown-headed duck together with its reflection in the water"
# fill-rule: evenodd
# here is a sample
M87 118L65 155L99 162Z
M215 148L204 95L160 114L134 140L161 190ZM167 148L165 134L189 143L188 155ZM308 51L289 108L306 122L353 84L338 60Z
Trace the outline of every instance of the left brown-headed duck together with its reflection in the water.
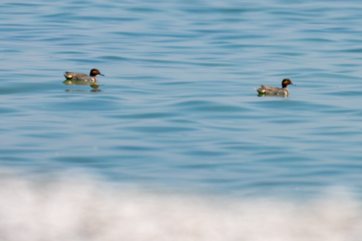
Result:
M97 85L98 79L96 75L99 74L101 76L104 76L104 74L101 74L98 69L92 69L90 70L90 74L82 74L82 73L74 73L74 72L65 72L64 76L67 78L63 83L66 85L89 85L93 89L90 90L91 92L98 92L101 91L98 89L99 86ZM86 90L66 90L66 91L86 91Z

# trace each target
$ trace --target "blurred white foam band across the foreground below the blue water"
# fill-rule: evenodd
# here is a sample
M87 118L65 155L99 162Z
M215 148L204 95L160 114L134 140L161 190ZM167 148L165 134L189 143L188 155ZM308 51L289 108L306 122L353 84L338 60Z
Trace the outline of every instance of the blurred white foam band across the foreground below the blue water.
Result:
M2 241L359 241L359 201L136 191L92 178L0 179Z

